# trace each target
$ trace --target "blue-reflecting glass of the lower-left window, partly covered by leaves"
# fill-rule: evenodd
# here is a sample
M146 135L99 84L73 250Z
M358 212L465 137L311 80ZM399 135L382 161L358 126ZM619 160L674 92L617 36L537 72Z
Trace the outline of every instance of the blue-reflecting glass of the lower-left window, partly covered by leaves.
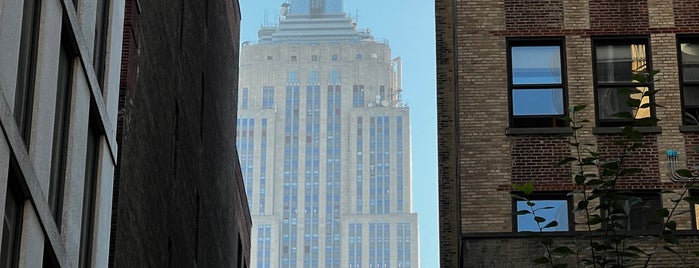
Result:
M543 229L543 232L565 232L569 231L568 227L568 201L567 200L532 200L534 203L533 209L536 211L537 217L543 217L546 221L540 224L541 227L546 226L551 221L556 220L558 226ZM544 209L551 207L548 209ZM517 211L531 211L531 207L526 201L517 201ZM534 221L534 215L518 215L517 216L517 231L518 232L539 232L539 225Z

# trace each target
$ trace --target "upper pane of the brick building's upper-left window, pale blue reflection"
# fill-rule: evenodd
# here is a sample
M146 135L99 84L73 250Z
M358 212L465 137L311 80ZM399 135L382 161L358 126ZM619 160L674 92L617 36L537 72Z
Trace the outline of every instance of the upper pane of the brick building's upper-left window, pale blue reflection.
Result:
M560 84L560 47L512 47L512 83Z

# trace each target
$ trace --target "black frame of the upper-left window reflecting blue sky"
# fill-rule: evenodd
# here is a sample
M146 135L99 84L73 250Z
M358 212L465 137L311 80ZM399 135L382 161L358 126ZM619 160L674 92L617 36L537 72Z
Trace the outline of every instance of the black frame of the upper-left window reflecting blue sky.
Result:
M508 94L508 117L510 128L544 128L551 129L557 127L568 127L568 123L562 120L568 115L568 81L566 64L565 37L537 37L537 38L508 38L507 43L507 94ZM561 82L552 84L515 84L512 62L513 47L546 47L558 46L561 64ZM532 89L561 89L563 113L560 115L515 115L513 93L515 90ZM550 124L544 123L550 120Z

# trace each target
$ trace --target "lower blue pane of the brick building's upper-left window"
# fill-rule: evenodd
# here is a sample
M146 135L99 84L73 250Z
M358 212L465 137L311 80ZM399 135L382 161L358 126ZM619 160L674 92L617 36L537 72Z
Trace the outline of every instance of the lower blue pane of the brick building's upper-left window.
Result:
M512 90L514 115L562 115L563 89Z

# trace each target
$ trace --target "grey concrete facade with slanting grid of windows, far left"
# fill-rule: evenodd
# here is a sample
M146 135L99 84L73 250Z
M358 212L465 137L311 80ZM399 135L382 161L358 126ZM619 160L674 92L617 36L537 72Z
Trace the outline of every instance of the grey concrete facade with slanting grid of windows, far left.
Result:
M106 267L124 1L0 1L0 267Z

